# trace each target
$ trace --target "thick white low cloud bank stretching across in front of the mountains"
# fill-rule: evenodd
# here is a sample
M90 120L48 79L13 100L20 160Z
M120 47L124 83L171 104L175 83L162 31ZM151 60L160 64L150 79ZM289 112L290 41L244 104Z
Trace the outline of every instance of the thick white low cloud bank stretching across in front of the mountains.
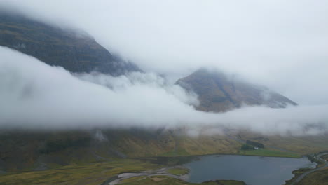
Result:
M206 113L193 108L196 95L156 74L70 74L3 47L0 58L0 128L187 127L209 134L235 128L282 135L327 131L328 105Z

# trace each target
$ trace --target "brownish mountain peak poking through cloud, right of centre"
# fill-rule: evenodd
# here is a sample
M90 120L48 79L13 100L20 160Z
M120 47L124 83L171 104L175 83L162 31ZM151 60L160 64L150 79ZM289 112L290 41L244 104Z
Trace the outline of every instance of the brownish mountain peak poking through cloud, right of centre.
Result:
M201 111L228 111L242 105L265 105L272 108L297 105L266 87L238 81L221 72L207 69L199 69L179 79L177 84L198 95L200 104L196 109Z

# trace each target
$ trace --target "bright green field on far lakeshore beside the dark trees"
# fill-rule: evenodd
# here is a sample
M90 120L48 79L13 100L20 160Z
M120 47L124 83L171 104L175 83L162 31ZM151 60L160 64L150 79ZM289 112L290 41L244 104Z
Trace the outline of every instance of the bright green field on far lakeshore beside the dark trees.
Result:
M240 150L239 154L245 155L245 156L271 156L271 157L285 157L285 158L301 158L301 156L296 153L273 151L273 150L269 150L269 149Z

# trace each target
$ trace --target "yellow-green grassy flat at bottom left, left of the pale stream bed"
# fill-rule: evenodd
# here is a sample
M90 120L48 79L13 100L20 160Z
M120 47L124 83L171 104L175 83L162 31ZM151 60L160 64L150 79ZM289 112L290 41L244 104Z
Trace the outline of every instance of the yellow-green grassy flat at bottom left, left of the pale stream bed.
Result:
M145 160L117 159L88 165L67 165L56 170L3 174L0 184L102 184L122 172L139 172L163 167Z

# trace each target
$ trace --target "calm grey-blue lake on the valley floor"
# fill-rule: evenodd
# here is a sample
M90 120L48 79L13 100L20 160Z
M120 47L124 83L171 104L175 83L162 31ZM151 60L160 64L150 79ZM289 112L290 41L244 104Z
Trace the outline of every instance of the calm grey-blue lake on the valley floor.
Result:
M308 158L214 155L201 156L184 166L190 169L189 182L224 179L247 185L280 185L294 177L292 171L315 165Z

